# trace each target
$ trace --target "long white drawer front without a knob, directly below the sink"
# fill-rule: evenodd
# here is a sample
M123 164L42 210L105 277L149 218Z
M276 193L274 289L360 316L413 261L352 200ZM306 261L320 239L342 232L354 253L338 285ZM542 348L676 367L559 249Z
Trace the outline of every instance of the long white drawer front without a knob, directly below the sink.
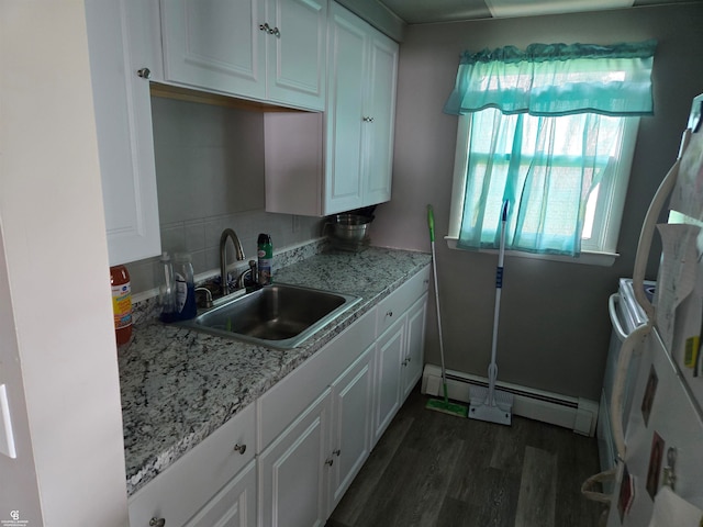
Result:
M376 310L342 332L258 401L259 447L263 451L376 339Z

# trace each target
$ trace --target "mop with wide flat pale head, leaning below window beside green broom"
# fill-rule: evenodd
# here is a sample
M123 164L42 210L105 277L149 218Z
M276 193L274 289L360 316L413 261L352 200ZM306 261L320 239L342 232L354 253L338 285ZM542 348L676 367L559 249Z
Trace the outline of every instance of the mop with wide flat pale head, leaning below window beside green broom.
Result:
M488 389L486 386L471 385L469 417L472 419L488 421L499 425L510 425L513 411L513 394L495 390L498 379L498 323L501 311L501 289L503 288L503 257L505 256L505 224L507 222L509 202L503 202L501 213L500 250L498 254L498 267L495 268L495 307L493 311L493 343L491 346L491 363L488 367Z

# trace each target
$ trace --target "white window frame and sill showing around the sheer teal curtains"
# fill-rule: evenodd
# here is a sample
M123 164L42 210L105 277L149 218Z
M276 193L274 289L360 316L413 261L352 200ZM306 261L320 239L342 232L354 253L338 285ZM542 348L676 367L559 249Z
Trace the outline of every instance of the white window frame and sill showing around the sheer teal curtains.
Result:
M620 256L617 253L617 240L627 195L627 187L632 171L639 117L623 117L625 130L623 132L623 145L621 156L614 164L613 170L616 172L610 178L606 189L607 195L604 200L599 200L594 220L594 233L596 240L584 240L581 247L581 255L578 258L560 255L533 254L520 250L505 250L507 256L523 258L565 261L570 264L583 264L610 267ZM447 246L457 249L457 239L461 226L461 212L464 210L464 195L467 184L468 168L468 139L471 132L471 115L459 115L457 123L457 141L455 147L454 176L451 182L451 202L449 209L449 228L445 236ZM602 191L602 189L601 189ZM598 225L598 228L596 228ZM604 227L606 225L606 227ZM596 245L594 245L596 244ZM461 250L461 249L459 249ZM496 249L479 249L479 253L498 254Z

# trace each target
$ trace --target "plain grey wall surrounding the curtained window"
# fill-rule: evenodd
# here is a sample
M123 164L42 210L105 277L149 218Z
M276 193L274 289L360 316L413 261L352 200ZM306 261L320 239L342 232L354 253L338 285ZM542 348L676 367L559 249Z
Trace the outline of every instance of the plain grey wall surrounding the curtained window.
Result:
M457 117L442 113L461 51L543 43L657 38L654 117L641 120L613 267L506 257L499 378L598 400L611 333L609 295L632 276L648 202L676 159L691 99L703 92L703 7L636 8L451 24L411 25L400 51L393 189L378 206L377 245L429 250L425 205L437 235L447 233ZM448 249L439 238L437 266L447 367L486 374L491 349L496 257ZM651 258L649 278L658 259ZM431 310L427 361L438 365Z

